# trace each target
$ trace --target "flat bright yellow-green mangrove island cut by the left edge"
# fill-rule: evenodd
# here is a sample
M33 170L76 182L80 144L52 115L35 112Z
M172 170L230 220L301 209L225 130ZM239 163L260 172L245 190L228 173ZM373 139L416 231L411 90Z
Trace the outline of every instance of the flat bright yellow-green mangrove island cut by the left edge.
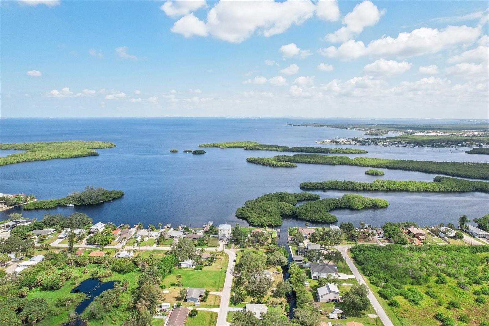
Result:
M51 159L96 156L100 154L95 152L93 148L110 147L115 147L115 144L112 142L95 140L3 143L0 144L0 149L16 149L24 150L25 152L0 157L0 165L30 161L45 161Z

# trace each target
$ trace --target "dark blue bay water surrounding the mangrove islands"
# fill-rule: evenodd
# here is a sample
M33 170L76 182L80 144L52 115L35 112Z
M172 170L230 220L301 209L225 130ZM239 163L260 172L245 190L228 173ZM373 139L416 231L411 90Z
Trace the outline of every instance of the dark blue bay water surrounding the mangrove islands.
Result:
M368 168L342 165L299 164L296 168L271 168L246 163L250 156L272 157L273 151L245 151L240 148L205 148L206 154L183 153L198 149L204 142L254 140L288 146L323 146L316 140L361 136L359 131L289 126L288 123L459 123L457 120L368 120L304 118L52 118L0 119L0 141L31 142L56 140L112 141L117 147L96 149L95 157L57 159L9 164L0 167L0 192L34 194L39 199L64 197L85 186L120 189L117 200L87 207L58 207L49 210L15 208L12 212L42 218L45 213L69 214L80 211L94 222L157 225L187 224L200 227L212 220L240 223L236 208L246 200L267 192L301 191L305 181L373 181ZM423 161L488 162L484 155L469 155L467 148L353 147L368 154L347 155ZM178 153L170 153L177 148ZM1 156L16 151L0 151ZM489 167L488 167L489 168ZM383 179L432 181L436 175L385 170ZM344 191L319 191L323 198L338 197ZM363 192L384 198L390 206L381 210L334 210L339 222L352 221L380 226L386 221L415 221L421 225L454 223L467 214L470 219L489 213L489 194ZM303 225L304 221L284 220L282 227ZM315 225L310 223L310 225Z

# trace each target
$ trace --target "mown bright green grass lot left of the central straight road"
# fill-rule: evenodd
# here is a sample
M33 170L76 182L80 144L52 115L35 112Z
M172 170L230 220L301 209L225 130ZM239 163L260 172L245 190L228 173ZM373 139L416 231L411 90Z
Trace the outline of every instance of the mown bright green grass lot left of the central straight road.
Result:
M180 274L183 287L205 287L210 292L221 291L226 278L224 272L227 269L228 262L229 256L224 254L222 258L212 263L211 266L204 266L201 271L196 271L193 268L177 268L163 279L163 284L166 286L177 286L177 275Z

